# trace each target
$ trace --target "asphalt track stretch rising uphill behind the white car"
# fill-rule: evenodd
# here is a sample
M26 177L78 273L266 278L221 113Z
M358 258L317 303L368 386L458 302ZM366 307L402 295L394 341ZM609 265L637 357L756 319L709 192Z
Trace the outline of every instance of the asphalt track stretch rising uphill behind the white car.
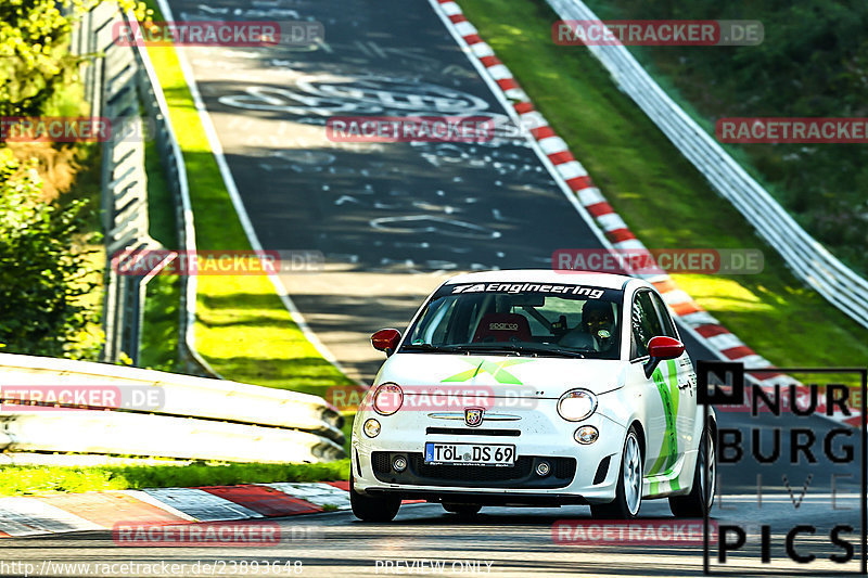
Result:
M178 18L234 5L171 2ZM188 50L263 248L322 252L324 271L283 283L319 338L368 383L380 358L367 337L404 329L452 272L549 268L554 249L600 246L521 136L480 144L327 139L331 116L506 119L433 10L408 8L292 2L253 14L321 22L326 43L316 50Z

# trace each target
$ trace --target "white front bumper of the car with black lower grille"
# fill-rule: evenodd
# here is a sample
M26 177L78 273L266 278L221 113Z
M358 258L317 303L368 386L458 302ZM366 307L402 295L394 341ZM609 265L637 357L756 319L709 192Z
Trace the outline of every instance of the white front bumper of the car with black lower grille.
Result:
M612 501L626 428L601 413L582 422L566 422L557 415L556 401L539 400L540 407L525 412L513 408L511 412L520 414L521 420L477 428L460 422L450 422L446 428L443 422L420 412L398 411L388 416L359 412L353 431L354 487L370 494L492 505ZM361 431L361 424L369 418L381 423L381 433L375 438L368 438ZM599 439L589 445L576 442L573 434L583 425L597 427ZM430 465L423 463L426 441L513 444L518 459L511 467ZM392 466L398 454L408 462L404 472ZM550 465L545 476L536 473L541 461Z

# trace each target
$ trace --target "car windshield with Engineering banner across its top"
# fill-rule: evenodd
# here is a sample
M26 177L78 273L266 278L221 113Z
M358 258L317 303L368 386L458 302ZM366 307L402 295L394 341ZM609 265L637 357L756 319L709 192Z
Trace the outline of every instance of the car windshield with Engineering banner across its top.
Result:
M400 352L492 352L618 359L620 290L574 284L441 287Z

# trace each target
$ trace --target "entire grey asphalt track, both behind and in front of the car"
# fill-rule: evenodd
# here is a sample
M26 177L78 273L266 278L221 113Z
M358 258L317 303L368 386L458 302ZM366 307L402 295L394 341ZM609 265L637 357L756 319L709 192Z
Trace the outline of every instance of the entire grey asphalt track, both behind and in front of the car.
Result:
M427 2L170 4L177 20L314 20L324 26L326 41L316 47L196 47L186 54L263 247L323 254L323 270L286 272L282 281L312 331L354 376L370 383L382 359L370 349L370 333L383 326L404 329L421 299L454 271L548 268L557 248L601 246L522 137L483 144L342 144L326 139L323 125L334 115L505 115ZM690 336L686 343L694 361L712 358ZM726 565L713 557L713 568L731 576L858 570L860 468L824 455L824 434L834 424L768 414L718 418L720 427L742 431L745 457L738 464L720 464L713 518L720 525L745 525L749 537ZM751 427L769 436L774 427L782 428L779 461L761 464L752 459ZM816 463L787 463L787 432L792 427L816 434ZM857 437L847 442L858 458ZM673 522L665 500L644 502L641 517ZM227 563L222 573L210 574L215 576L265 575L240 566L230 571L232 561L254 560L302 561L302 576L702 573L701 543L560 543L552 524L565 518L588 519L589 510L486 508L480 516L462 519L436 504L412 504L393 524L373 525L335 512L277 521L288 534L293 527L309 528L308 538L219 551L122 548L107 532L3 543L7 560L168 561L186 564L189 575L205 575L195 571L197 561ZM770 564L760 561L763 524L771 526ZM815 536L801 535L796 541L800 552L816 554L810 564L786 557L784 535L797 524L817 528ZM843 535L856 551L848 564L828 561L830 554L842 553L828 539L837 524L854 528ZM407 566L413 561L417 566ZM420 561L442 561L445 567L442 573L430 566L422 571Z

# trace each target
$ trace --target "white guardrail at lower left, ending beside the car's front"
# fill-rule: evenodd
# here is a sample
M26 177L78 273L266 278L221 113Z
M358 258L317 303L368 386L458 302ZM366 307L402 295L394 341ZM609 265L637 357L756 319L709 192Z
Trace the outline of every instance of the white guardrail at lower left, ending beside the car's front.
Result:
M138 368L0 354L0 449L239 462L344 458L344 419L320 397ZM29 401L21 389L153 391L157 404ZM65 409L65 411L62 411Z

